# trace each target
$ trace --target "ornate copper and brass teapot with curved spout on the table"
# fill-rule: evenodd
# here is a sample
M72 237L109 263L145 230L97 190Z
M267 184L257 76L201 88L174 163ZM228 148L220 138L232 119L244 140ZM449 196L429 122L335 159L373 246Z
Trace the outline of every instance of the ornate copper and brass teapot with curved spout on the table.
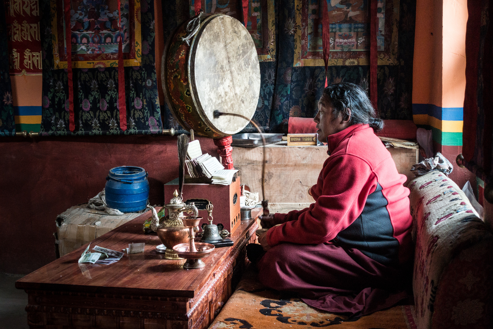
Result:
M166 246L164 257L166 259L183 259L178 257L173 247L181 243L188 243L188 227L183 226L183 221L180 217L183 211L192 212L195 217L199 216L199 211L195 207L195 203L185 204L178 197L178 191L175 190L170 203L164 206L168 210L168 216L166 216L161 224L159 224L156 210L152 207L150 208L152 209L150 228L157 233L159 240Z

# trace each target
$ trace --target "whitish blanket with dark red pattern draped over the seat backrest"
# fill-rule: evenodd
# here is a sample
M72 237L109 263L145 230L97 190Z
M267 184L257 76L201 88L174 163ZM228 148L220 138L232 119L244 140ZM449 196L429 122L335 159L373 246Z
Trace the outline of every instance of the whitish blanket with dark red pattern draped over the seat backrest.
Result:
M464 248L489 240L492 235L465 194L444 173L432 171L418 176L410 182L409 189L416 244L413 273L416 323L418 328L428 329L447 265Z

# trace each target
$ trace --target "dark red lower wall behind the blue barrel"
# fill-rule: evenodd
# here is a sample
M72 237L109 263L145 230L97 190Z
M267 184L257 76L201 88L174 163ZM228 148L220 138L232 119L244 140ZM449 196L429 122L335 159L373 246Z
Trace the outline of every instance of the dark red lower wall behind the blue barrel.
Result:
M203 152L217 156L211 139ZM149 173L150 204L178 176L176 137L101 136L0 140L0 272L27 274L55 259L55 219L103 190L109 169Z

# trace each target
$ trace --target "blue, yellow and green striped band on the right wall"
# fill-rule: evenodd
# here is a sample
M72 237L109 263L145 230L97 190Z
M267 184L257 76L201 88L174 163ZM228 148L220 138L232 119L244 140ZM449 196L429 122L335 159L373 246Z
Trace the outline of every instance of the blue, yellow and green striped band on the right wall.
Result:
M463 108L442 108L433 104L413 104L414 123L433 131L440 145L462 145Z

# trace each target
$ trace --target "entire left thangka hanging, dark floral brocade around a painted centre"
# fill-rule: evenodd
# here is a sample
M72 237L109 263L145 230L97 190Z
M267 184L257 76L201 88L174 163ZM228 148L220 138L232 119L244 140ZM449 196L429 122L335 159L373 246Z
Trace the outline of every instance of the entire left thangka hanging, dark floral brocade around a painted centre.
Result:
M153 0L71 1L75 130L69 130L63 1L40 0L43 51L42 135L156 134L162 130L155 69ZM97 9L97 10L95 10ZM118 42L123 39L127 129L120 129ZM160 59L158 59L160 60Z

